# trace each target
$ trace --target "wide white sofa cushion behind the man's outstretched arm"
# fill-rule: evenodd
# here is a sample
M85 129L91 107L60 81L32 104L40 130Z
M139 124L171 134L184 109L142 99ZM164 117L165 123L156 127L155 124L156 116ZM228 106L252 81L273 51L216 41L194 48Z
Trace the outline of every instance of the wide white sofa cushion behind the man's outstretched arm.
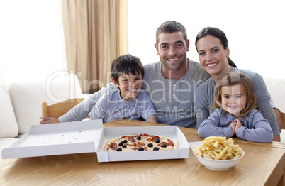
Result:
M20 133L26 133L30 126L40 124L41 102L55 104L82 97L77 76L64 75L61 71L50 75L46 81L16 82L10 84L8 89Z

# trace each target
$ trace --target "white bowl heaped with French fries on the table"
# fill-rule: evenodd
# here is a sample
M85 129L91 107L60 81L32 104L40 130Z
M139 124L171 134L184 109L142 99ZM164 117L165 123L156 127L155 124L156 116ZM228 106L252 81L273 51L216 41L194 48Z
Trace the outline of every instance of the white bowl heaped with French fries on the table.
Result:
M211 170L228 170L245 155L240 146L233 144L232 138L211 136L201 142L200 146L194 145L193 153Z

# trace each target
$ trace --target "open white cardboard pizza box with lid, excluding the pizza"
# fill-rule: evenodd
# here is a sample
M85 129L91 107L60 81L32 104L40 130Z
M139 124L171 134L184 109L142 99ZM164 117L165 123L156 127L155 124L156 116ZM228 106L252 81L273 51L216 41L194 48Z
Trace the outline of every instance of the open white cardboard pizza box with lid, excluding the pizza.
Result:
M106 152L104 146L114 137L147 133L177 141L175 150ZM189 143L177 126L135 126L103 128L101 120L74 121L31 126L30 131L4 148L2 158L97 153L99 162L189 158Z

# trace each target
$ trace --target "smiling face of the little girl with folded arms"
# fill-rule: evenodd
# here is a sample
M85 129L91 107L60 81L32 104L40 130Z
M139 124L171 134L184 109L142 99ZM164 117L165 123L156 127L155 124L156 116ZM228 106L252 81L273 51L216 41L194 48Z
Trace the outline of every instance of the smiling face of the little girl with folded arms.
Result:
M228 111L233 116L240 116L240 111L245 109L247 104L247 97L245 95L245 88L236 84L233 86L221 87L222 106L225 111Z

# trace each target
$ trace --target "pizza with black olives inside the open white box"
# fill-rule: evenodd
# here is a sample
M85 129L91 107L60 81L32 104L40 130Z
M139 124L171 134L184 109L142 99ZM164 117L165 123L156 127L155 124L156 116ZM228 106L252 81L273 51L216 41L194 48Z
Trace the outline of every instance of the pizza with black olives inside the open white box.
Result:
M176 148L177 141L141 133L112 138L104 146L104 151L164 151Z

